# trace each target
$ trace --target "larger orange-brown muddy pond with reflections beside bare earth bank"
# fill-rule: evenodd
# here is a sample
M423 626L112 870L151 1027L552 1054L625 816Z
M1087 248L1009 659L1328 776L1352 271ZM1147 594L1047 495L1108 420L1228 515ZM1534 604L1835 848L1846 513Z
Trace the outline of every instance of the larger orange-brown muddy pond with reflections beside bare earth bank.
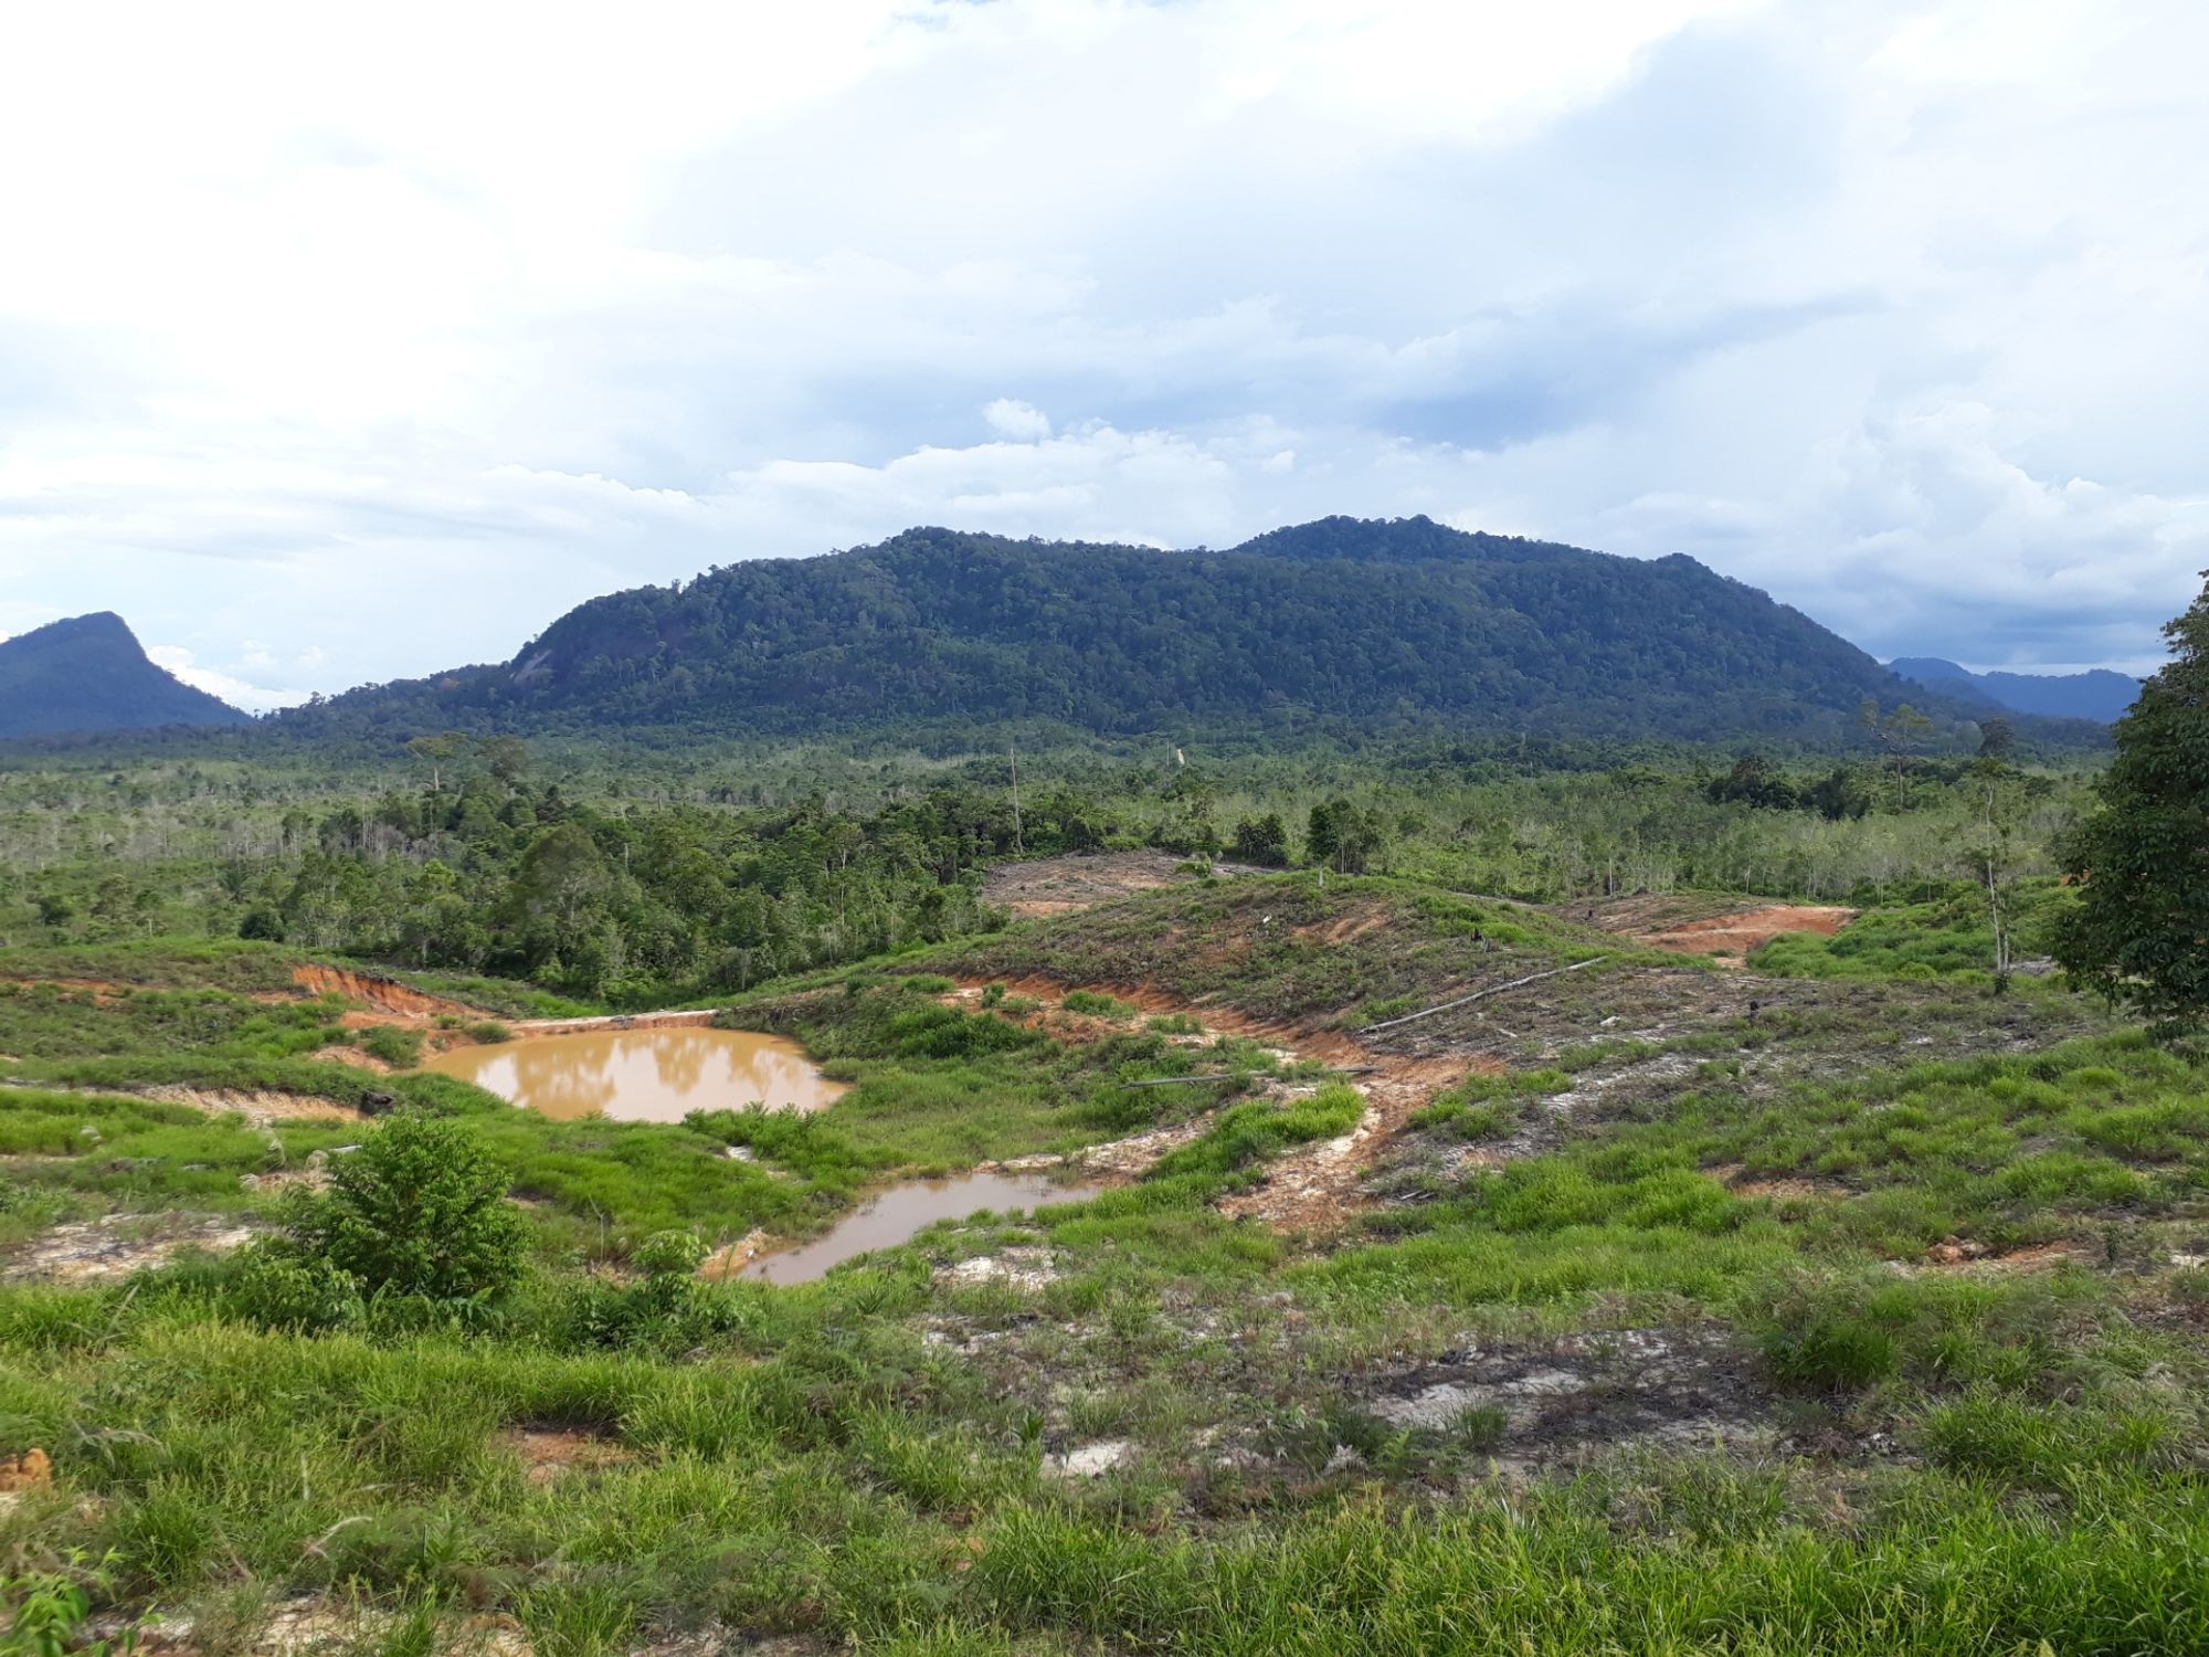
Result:
M561 1122L605 1114L616 1122L680 1122L687 1111L817 1111L844 1094L782 1036L749 1030L574 1030L453 1047L424 1069L459 1076Z

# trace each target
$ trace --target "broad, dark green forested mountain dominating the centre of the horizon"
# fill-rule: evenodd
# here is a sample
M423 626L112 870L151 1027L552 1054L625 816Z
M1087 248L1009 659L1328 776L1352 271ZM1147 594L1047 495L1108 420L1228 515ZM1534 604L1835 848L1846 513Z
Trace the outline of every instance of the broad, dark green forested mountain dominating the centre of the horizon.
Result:
M281 729L797 736L1049 720L1827 740L1864 698L1911 694L1688 557L1332 517L1226 552L917 528L733 563L594 599L504 667L364 687Z

